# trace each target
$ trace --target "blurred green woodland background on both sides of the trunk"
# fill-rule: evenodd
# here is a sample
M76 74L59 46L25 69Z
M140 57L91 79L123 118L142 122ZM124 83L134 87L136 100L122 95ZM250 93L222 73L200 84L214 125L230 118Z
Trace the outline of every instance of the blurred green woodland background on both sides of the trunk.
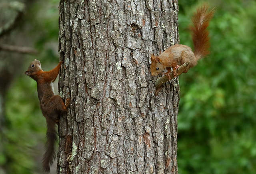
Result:
M192 46L188 25L203 2L179 1L180 44ZM34 58L44 70L58 63L58 3L0 2L1 174L42 173L46 124L42 124L36 82L24 72ZM212 53L180 76L179 174L254 174L256 2L208 3L217 9L209 27ZM12 21L15 25L2 32ZM10 50L10 46L16 47ZM26 54L17 51L23 47L30 48Z

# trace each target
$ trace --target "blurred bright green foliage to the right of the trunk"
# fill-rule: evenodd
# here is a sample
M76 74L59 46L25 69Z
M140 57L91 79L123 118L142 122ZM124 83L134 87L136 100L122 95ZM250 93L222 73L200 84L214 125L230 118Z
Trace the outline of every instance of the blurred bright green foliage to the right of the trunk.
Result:
M202 1L179 1L180 44ZM180 174L256 172L256 2L209 1L211 54L180 76ZM192 46L193 47L193 46Z

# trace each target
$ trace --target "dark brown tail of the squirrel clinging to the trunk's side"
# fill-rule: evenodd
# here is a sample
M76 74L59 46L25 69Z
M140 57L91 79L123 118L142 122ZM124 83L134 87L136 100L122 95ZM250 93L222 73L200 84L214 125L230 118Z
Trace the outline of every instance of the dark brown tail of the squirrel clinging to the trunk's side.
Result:
M50 172L50 165L56 158L55 143L57 141L57 131L54 120L47 120L45 152L42 160L42 166L45 172Z

